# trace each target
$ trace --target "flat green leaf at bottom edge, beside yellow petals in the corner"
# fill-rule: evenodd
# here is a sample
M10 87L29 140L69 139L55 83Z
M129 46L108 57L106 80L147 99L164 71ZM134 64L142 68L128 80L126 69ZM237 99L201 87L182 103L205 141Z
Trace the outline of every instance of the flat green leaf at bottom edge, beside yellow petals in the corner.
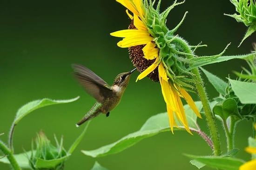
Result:
M239 170L239 167L244 163L241 159L233 157L216 157L216 156L194 156L186 155L196 161L205 164L211 168L217 168L220 170Z

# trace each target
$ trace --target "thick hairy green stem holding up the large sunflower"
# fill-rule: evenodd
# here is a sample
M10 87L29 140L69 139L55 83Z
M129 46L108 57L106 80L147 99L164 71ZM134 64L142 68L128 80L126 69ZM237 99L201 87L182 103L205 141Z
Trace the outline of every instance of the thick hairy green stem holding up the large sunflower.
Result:
M193 54L192 50L189 48L189 45L182 38L177 37L175 38L174 41L176 41L177 44L182 46L182 49L184 50L184 52ZM190 55L188 55L187 57L193 58L193 56L190 56ZM214 155L219 156L221 155L221 143L220 143L220 137L219 137L219 133L216 125L216 118L211 111L209 100L207 98L206 91L203 87L203 81L199 73L199 69L196 68L196 69L192 69L191 71L195 75L194 76L195 85L196 85L198 94L200 96L200 99L202 101L203 110L205 112L206 120L208 122L211 139L213 141L213 146L214 146Z

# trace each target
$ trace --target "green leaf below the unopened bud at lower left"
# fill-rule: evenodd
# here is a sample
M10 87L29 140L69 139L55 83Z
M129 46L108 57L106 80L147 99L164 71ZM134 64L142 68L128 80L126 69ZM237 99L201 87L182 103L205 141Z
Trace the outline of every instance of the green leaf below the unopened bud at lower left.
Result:
M35 168L52 169L52 168L55 168L57 165L66 161L68 159L68 157L70 157L70 155L67 155L65 157L61 157L58 159L52 159L52 160L44 160L44 159L40 159L40 158L35 158L36 159Z

